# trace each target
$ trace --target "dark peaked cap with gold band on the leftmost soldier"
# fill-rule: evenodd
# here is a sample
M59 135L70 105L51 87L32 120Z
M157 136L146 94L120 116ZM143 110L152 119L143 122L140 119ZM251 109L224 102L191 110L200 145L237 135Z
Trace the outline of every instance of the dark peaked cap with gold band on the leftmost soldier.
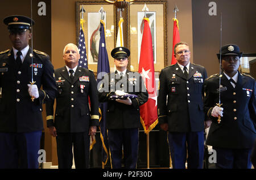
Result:
M3 23L8 26L10 32L24 32L30 30L34 25L34 20L22 15L11 15L3 19Z

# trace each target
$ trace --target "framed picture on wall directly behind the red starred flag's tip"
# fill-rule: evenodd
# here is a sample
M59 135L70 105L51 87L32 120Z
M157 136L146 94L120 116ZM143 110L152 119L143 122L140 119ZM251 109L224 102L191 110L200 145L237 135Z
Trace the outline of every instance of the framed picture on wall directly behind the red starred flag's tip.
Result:
M144 18L144 12L142 9L145 4L148 8L146 17L150 20L155 72L160 72L167 66L168 62L166 0L138 0L130 5L128 28L130 32L128 34L129 48L133 52L130 55L131 67L134 71L138 71L143 35L142 19Z

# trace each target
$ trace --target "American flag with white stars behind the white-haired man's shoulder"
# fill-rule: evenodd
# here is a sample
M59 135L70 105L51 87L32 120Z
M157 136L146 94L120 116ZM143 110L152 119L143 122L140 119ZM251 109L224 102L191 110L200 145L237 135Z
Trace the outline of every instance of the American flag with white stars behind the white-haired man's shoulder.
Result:
M78 48L79 48L79 53L80 53L79 67L88 69L84 31L82 30L82 26L80 27L79 47Z

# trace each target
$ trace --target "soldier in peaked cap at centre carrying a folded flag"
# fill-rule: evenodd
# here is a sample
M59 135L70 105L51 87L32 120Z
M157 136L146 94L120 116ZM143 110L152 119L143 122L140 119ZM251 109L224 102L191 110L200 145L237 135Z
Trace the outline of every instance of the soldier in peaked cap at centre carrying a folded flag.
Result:
M130 56L125 47L114 48L111 52L117 70L108 73L101 82L100 102L108 102L106 128L112 168L121 168L122 146L125 168L136 168L139 145L139 106L147 102L148 93L141 75L127 70ZM134 94L138 97L112 100L113 95Z

